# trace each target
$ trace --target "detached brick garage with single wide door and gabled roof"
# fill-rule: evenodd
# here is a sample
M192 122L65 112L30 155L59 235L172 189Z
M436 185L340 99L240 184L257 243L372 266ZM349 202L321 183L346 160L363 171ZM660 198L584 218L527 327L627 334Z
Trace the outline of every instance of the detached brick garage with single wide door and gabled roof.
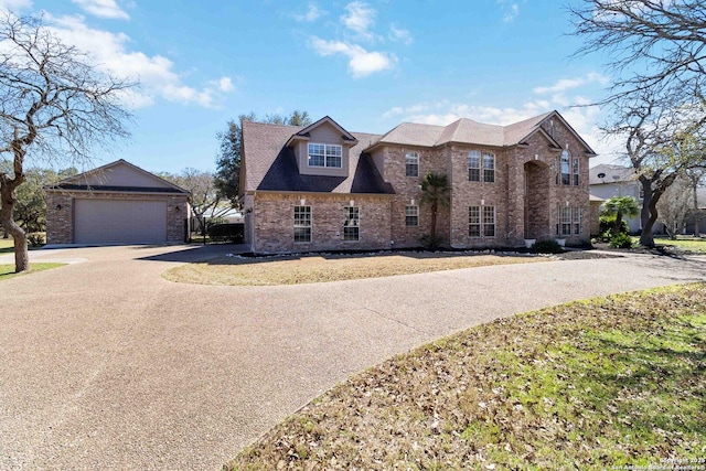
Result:
M182 243L189 235L189 196L118 160L46 189L46 243Z

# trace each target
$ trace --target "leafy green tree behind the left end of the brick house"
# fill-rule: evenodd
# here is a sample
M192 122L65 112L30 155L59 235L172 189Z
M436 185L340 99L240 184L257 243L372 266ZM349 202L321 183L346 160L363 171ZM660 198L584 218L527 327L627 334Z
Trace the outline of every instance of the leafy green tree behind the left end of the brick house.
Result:
M240 192L240 152L243 144L243 121L269 122L271 125L309 126L311 119L307 111L295 110L288 117L280 115L267 115L258 120L255 113L240 115L238 120L229 120L224 131L216 133L221 143L216 157L215 186L221 199L231 203L232 207L239 208Z

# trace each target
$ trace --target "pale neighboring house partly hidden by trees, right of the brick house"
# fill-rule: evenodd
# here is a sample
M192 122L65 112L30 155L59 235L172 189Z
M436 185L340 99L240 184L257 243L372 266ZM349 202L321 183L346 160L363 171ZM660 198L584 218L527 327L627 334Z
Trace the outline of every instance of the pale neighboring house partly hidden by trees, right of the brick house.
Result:
M642 208L642 186L631 167L601 163L590 169L589 183L593 196L602 200L610 200L613 196L632 196L638 201L638 207ZM632 234L642 229L642 221L639 215L625 217L624 221ZM653 233L662 233L663 231L660 223L655 223L652 229Z

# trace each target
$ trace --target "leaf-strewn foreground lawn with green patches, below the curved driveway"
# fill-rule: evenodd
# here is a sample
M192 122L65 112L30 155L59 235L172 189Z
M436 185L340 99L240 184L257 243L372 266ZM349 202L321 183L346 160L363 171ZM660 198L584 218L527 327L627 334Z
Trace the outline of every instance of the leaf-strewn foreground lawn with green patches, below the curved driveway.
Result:
M226 469L703 465L704 404L706 283L673 286L498 320L393 358Z

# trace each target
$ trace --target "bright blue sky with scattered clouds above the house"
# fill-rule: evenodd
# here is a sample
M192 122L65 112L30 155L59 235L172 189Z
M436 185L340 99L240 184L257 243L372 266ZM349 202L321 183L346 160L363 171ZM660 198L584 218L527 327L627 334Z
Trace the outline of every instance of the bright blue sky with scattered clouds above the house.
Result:
M567 0L569 1L569 0ZM578 1L578 0L576 0ZM566 8L553 0L0 0L44 13L101 67L138 78L124 158L149 171L214 170L228 119L307 110L350 131L467 117L510 124L557 109L602 156L591 103L610 84L596 54L570 58Z

